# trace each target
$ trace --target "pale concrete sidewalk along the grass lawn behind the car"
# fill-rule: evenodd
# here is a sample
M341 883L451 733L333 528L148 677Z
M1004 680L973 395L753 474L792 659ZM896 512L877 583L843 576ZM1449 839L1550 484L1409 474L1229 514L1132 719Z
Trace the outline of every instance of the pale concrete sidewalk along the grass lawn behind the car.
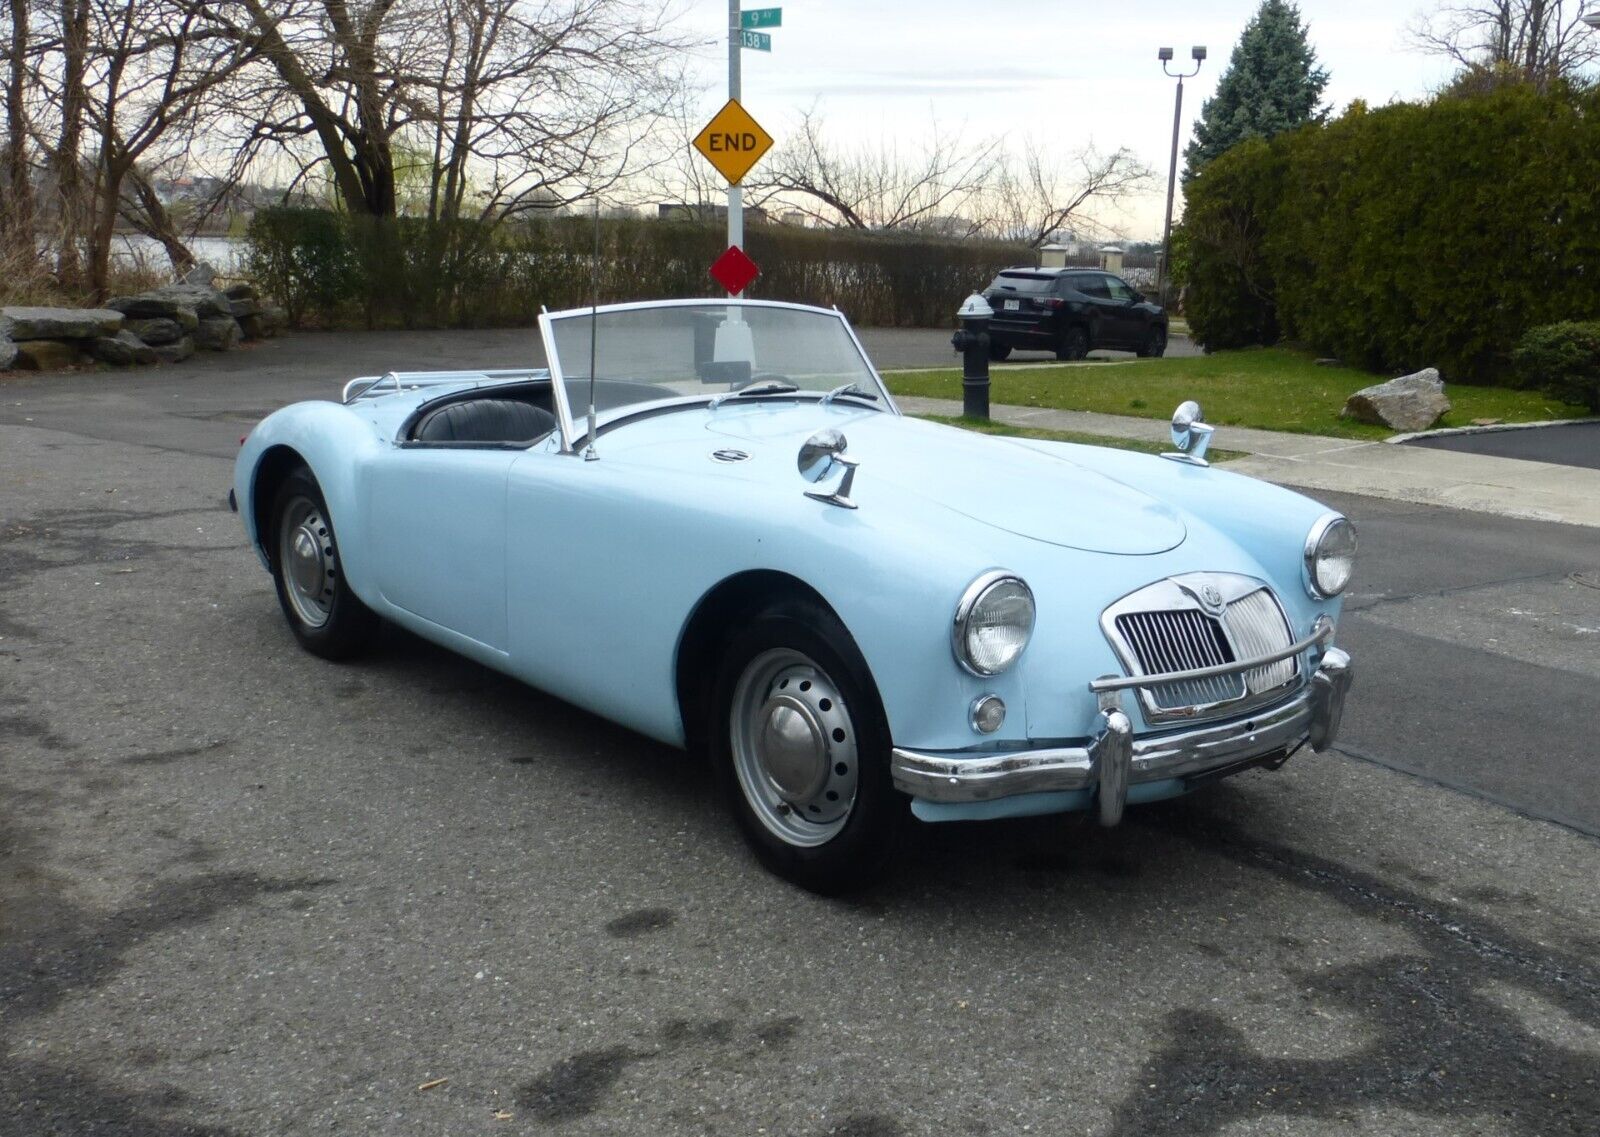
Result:
M907 414L962 413L955 400L898 397L894 401ZM1168 425L1160 419L1037 406L994 406L992 417L1018 427L1168 440ZM1246 427L1218 427L1211 445L1250 454L1224 469L1298 489L1600 528L1600 470Z

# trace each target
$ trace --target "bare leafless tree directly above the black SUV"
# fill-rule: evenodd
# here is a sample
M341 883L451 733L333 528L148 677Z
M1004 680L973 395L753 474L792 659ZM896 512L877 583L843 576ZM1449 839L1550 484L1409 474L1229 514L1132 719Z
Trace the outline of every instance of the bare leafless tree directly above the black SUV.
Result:
M1147 189L1154 178L1128 149L1101 154L1085 147L1059 160L1046 146L1026 139L1019 160L1008 162L981 195L984 229L1038 246L1061 229L1099 227L1091 209Z

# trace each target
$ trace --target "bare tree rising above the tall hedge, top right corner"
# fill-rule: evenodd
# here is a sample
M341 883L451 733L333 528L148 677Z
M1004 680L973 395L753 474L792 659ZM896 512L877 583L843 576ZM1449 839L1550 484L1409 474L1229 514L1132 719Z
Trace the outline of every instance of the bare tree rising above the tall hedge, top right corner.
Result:
M1474 75L1544 85L1600 59L1600 37L1582 16L1594 0L1454 0L1411 26L1413 43Z

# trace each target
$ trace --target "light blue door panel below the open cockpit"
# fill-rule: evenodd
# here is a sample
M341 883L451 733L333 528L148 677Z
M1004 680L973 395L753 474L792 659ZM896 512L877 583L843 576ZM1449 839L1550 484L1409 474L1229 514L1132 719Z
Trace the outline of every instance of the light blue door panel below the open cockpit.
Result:
M506 651L506 478L520 449L397 445L368 470L384 600Z

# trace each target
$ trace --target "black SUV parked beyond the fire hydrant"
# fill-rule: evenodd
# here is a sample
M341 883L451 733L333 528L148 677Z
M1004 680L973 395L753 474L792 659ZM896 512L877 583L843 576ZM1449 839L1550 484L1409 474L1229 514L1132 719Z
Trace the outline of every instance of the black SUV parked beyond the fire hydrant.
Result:
M1157 357L1166 350L1166 310L1122 277L1099 269L1006 269L984 289L995 310L989 355L1011 349L1082 360L1096 347Z

